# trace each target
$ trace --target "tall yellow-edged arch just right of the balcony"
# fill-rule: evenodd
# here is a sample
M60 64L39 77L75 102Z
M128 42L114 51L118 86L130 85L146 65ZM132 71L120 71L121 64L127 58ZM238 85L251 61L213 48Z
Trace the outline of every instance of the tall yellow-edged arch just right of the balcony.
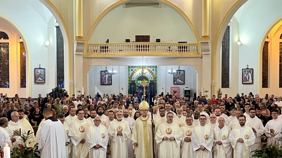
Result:
M230 22L231 18L234 16L236 11L244 4L247 0L238 0L227 12L227 14L224 16L221 24L219 25L219 29L216 32L216 36L214 38L214 44L213 44L213 56L212 56L212 80L216 82L216 84L212 85L212 92L213 94L217 94L217 87L218 82L216 78L216 55L217 51L221 48L221 41L225 32L225 28L227 27L228 23Z

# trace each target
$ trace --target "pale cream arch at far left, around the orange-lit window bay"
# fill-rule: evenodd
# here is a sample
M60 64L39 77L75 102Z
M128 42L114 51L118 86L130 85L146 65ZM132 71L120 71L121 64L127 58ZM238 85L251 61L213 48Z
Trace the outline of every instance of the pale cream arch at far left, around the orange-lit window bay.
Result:
M26 63L27 69L26 69L26 72L27 72L27 76L29 77L28 82L26 82L26 87L27 87L26 88L27 89L26 94L28 94L28 96L31 96L31 57L30 57L31 53L30 53L30 47L29 47L29 44L27 42L26 36L24 35L24 32L20 29L20 27L13 20L4 16L3 14L0 14L0 17L5 19L6 21L8 21L8 23L11 24L18 31L19 35L23 39L24 46L25 46L25 49L26 49L26 54L27 54L27 63Z

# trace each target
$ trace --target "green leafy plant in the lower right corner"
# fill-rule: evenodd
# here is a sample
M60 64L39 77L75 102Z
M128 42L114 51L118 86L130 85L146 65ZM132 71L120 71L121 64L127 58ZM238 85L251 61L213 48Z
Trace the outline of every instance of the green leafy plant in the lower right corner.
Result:
M270 142L261 142L259 143L260 146L254 150L254 154L252 157L261 157L261 158L281 158L282 157L282 149L279 147L279 141L273 140L273 138L278 135L280 131L276 133L267 133L270 135L270 137L266 137L265 135L262 135L259 137L259 139L267 140L267 138L270 139ZM253 152L253 151L252 151Z

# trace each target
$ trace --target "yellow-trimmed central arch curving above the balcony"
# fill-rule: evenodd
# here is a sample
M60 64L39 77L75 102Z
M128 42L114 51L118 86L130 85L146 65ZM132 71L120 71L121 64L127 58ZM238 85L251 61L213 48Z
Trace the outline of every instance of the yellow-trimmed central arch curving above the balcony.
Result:
M120 0L115 2L114 4L108 6L96 19L96 21L93 23L93 25L91 26L87 37L86 37L86 43L89 43L90 41L90 37L93 33L93 31L95 30L95 28L97 27L97 25L99 24L99 22L113 9L115 9L116 7L126 3L127 1L130 0ZM182 16L182 18L184 18L184 20L190 25L191 30L194 34L194 37L196 38L195 40L197 41L197 43L199 43L199 35L197 33L196 28L194 27L192 21L189 19L189 17L184 13L184 11L182 9L180 9L177 5L175 5L174 3L168 1L168 0L157 0L160 1L163 4L166 4L167 6L171 7L172 9L174 9L177 13L179 13L180 16ZM87 44L84 45L84 54L87 51Z

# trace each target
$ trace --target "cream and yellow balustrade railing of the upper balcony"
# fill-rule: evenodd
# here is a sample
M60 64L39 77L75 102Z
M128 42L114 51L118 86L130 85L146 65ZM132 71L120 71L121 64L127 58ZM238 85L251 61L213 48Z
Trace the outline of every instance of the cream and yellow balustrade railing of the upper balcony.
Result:
M199 56L199 44L187 43L160 43L160 42L128 42L128 43L107 43L88 44L86 57L101 56L138 56L147 54L154 56ZM140 52L142 54L140 54Z

